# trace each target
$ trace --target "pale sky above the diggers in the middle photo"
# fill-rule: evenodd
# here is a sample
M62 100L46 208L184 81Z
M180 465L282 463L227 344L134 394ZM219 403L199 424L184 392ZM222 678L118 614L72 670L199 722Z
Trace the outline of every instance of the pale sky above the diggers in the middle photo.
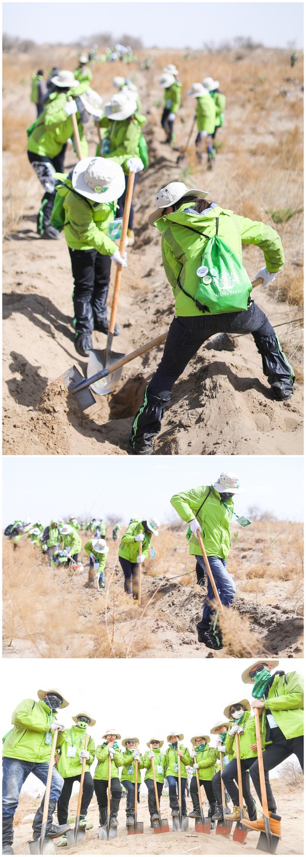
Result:
M237 514L249 506L279 520L303 520L303 458L299 456L6 456L3 458L3 527L17 518L70 515L117 520L175 518L170 504L178 491L210 485L222 470L239 476L244 494Z

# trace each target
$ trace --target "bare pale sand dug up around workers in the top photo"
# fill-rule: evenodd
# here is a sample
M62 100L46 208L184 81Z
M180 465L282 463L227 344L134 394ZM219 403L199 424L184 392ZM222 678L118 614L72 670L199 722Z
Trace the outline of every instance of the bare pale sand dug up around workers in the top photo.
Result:
M225 207L237 209L237 159L231 152L237 141L237 122L242 121L241 104L229 109L225 152L217 158L212 174L193 165L177 167L177 152L163 145L159 127L160 92L153 80L137 73L143 111L147 115L145 133L150 151L150 166L136 189L135 247L129 250L129 267L123 272L123 285L117 321L122 335L114 340L117 351L133 351L138 345L167 331L173 315L171 288L161 266L159 233L147 224L157 190L173 179L185 180L194 187L210 190L211 197ZM18 100L24 97L15 85ZM11 94L8 94L8 99ZM193 105L184 99L182 119L177 126L177 142L186 138ZM10 102L8 102L10 104ZM281 103L275 115L279 133L288 129L288 117ZM92 132L93 135L93 132ZM225 139L225 131L223 131ZM243 129L242 144L256 147L258 137L252 129ZM95 153L95 141L90 143ZM7 169L12 155L4 153ZM192 157L195 159L194 154ZM25 156L26 158L26 156ZM66 165L74 163L68 149ZM26 163L25 163L26 167ZM28 169L28 167L27 167ZM258 166L257 166L258 171ZM233 176L231 181L231 176ZM275 175L277 183L278 178ZM145 383L153 374L163 346L138 358L123 369L115 394L82 413L64 387L54 380L70 365L84 373L86 361L75 354L72 322L72 278L68 249L62 236L58 242L42 241L35 234L40 189L37 179L25 183L27 202L20 225L4 243L4 406L3 449L6 454L129 454L129 436ZM242 191L239 190L240 199ZM242 212L240 207L240 212ZM250 214L249 216L252 216ZM265 207L256 201L255 219L265 219ZM288 261L294 257L288 250ZM247 248L244 260L254 277L262 264L262 255ZM114 273L112 272L112 283ZM112 288L110 289L110 296ZM256 302L274 325L301 315L297 307L276 300L273 288L255 291ZM282 336L286 327L279 328ZM105 347L105 336L94 334L95 347ZM189 363L177 381L166 411L163 428L156 442L156 454L296 454L303 451L302 388L289 402L275 403L270 398L262 375L261 357L251 336L235 342L211 340Z

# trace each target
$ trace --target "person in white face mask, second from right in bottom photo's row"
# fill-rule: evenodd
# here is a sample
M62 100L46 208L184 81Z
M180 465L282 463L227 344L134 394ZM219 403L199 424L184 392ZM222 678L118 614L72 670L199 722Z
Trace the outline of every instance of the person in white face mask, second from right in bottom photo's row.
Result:
M234 805L233 812L228 815L228 818L233 821L239 821L239 794L237 788L237 747L235 734L239 738L240 762L242 778L245 771L248 771L257 757L255 717L251 714L251 706L248 699L239 699L237 702L232 702L226 705L224 710L225 717L231 717L232 725L227 732L225 738L225 751L228 756L231 756L231 762L226 765L222 774L222 779L225 784L227 793L230 795ZM268 776L266 777L266 784ZM245 781L244 781L245 783ZM245 795L243 794L243 797ZM251 818L256 818L255 801L250 795L249 813ZM247 807L243 804L243 818L248 818Z

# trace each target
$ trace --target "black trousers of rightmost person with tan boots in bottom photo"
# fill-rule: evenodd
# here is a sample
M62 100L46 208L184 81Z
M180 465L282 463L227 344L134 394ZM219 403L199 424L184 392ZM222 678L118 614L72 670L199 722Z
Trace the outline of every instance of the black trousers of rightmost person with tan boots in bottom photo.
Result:
M291 756L291 753L295 753L303 770L303 735L300 738L291 738L289 740L285 738L285 735L281 732L281 729L275 728L271 731L273 734L273 743L269 744L266 750L264 750L264 752L262 753L262 758L267 788L267 808L271 810L271 812L276 812L277 807L269 783L268 772L269 770L273 770L273 768L276 768L276 766L281 762L284 762L284 759L288 758L288 756ZM261 785L259 780L257 759L255 759L255 762L249 768L249 776L251 777L255 791L258 794L259 799L261 800Z

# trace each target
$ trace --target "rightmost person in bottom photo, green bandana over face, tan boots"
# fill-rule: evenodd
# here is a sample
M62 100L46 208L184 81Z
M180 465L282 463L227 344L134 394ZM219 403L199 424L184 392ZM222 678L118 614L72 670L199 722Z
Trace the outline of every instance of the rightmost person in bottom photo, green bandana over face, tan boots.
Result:
M294 670L276 670L279 661L262 658L243 671L245 684L253 685L252 708L261 714L262 753L267 788L267 808L273 833L280 836L280 817L269 783L269 770L294 753L303 770L303 677ZM256 793L261 800L258 762L249 768ZM264 821L248 821L248 829L265 830Z

